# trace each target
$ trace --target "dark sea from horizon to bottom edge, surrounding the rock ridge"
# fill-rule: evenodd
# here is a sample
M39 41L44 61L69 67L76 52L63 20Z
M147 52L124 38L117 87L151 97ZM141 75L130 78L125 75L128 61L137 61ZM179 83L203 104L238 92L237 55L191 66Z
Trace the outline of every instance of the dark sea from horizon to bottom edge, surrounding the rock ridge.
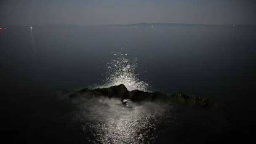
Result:
M56 93L124 83L128 90L182 91L218 101L210 112L183 109L179 123L160 127L165 132L156 143L242 141L254 126L255 40L255 27L8 27L0 31L3 132L25 143L88 143L81 125L68 123L74 106ZM138 106L139 115L110 109L115 115L103 118L111 128L118 128L114 116L121 126L135 125L141 113L150 116L146 107L154 108ZM124 130L127 136L111 132L135 143L134 128Z

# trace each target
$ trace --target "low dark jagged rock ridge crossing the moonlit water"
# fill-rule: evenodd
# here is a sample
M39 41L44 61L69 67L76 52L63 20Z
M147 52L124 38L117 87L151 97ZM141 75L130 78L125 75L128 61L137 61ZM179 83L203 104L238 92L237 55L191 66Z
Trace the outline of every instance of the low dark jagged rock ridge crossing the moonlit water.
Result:
M160 92L144 92L139 90L128 91L125 85L120 84L109 88L96 88L88 89L84 88L79 91L75 91L68 95L69 99L76 99L83 96L105 96L108 98L120 98L130 99L134 102L141 101L164 101L177 104L186 104L189 106L203 106L209 107L213 105L213 102L208 98L201 98L200 96L188 96L184 93L178 92L173 95L167 95Z

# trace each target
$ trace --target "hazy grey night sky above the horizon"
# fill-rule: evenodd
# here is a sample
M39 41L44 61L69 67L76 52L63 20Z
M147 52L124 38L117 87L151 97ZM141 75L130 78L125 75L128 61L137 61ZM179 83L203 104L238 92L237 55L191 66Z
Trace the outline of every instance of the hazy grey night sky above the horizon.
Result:
M256 24L254 0L1 0L0 23Z

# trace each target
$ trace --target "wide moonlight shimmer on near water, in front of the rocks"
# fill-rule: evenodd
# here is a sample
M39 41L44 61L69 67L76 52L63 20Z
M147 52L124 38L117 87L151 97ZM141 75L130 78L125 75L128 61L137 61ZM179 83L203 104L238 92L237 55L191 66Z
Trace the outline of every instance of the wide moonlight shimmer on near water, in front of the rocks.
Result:
M125 107L120 99L104 97L83 98L82 112L76 118L88 141L101 144L151 144L157 138L157 125L164 117L171 116L168 104L157 102L131 103Z

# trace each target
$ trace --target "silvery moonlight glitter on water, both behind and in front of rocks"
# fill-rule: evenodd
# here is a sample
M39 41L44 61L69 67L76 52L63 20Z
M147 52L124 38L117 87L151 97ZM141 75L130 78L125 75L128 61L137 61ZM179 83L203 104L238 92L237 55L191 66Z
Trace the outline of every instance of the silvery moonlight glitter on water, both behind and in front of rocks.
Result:
M126 55L125 55L126 56ZM136 74L137 59L124 56L107 63L106 83L96 88L124 84L128 91L149 91L149 85ZM91 94L73 101L79 110L75 121L82 123L88 141L95 144L152 144L157 138L157 125L164 117L171 117L169 104L144 101L140 104L120 99L95 97Z

